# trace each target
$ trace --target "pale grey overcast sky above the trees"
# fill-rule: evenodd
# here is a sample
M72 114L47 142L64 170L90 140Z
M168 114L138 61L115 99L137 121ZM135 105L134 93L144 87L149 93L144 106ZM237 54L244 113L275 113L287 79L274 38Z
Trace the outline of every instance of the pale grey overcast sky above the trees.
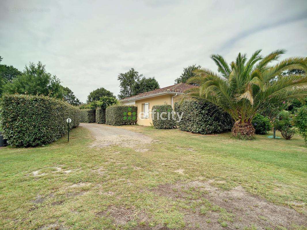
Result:
M117 95L117 76L131 67L165 87L188 65L216 70L213 53L229 62L257 49L307 56L306 0L1 0L0 6L2 64L23 70L41 61L83 102L100 87Z

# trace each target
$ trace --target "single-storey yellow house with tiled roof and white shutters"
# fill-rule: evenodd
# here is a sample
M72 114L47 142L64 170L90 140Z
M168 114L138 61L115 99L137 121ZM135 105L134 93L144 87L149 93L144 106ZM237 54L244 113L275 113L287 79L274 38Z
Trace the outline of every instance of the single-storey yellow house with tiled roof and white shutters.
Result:
M132 97L120 100L123 105L138 106L138 125L152 125L151 109L153 105L172 105L178 100L178 96L194 86L179 83L173 86L152 90Z

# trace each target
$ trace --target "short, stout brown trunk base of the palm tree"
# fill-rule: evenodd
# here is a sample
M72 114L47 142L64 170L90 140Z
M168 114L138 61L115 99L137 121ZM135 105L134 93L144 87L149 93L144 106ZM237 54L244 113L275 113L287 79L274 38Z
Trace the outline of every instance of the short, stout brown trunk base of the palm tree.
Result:
M255 128L250 121L242 122L237 121L232 127L232 135L241 140L251 140L254 139Z

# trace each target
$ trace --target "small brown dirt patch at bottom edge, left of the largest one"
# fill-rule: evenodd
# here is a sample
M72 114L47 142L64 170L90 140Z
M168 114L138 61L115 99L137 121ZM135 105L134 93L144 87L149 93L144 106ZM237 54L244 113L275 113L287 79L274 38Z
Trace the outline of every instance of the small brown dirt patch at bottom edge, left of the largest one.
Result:
M149 222L147 214L143 211L137 211L134 207L126 208L111 205L106 211L96 213L96 215L111 218L116 225L125 225L130 220L136 220L138 223Z

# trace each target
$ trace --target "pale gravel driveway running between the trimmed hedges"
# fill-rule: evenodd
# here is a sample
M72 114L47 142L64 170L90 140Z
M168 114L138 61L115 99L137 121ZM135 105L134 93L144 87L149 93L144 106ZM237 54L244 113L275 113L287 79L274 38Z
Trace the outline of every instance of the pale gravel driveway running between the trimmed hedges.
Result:
M153 140L142 133L132 132L126 129L109 125L81 123L80 126L91 131L95 141L90 147L103 148L110 145L134 148L138 144L149 144ZM136 149L136 151L148 151L148 149Z

